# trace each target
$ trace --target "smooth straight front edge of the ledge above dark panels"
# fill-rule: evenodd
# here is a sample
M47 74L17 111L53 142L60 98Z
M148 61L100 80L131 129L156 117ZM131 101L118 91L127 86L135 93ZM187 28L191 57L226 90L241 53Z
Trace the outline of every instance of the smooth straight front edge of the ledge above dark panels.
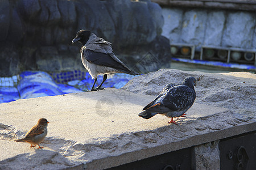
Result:
M226 129L192 136L181 141L171 142L161 146L150 147L133 152L127 152L117 156L109 156L107 158L93 160L92 162L84 164L84 169L106 169L117 167L122 164L127 164L135 162L137 160L150 158L152 156L161 155L167 152L180 150L180 145L182 145L183 148L188 148L212 141L217 141L224 138L233 137L244 133L249 133L251 131L256 131L256 122L251 122L249 124L244 123L243 125L237 125L231 128L228 127ZM201 140L198 140L199 137L201 138ZM79 168L80 166L81 165L78 165L77 168Z

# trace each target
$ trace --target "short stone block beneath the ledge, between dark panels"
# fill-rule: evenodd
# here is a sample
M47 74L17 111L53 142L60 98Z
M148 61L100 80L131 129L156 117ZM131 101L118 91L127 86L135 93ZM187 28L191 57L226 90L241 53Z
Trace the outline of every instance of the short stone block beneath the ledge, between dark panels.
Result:
M220 151L218 142L209 142L204 145L195 146L197 169L220 169Z

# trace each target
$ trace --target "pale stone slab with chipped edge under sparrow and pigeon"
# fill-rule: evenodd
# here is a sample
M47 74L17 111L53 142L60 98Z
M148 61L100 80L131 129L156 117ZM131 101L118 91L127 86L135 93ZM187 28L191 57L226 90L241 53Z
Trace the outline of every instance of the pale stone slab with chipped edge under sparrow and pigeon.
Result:
M154 97L106 88L0 104L0 169L105 169L256 129L254 117L199 103L179 126L138 117ZM41 117L50 122L43 150L14 142Z

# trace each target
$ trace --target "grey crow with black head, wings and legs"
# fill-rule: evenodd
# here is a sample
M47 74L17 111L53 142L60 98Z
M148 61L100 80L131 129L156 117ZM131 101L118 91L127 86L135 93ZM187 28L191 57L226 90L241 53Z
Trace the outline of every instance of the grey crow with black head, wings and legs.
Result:
M80 42L82 44L80 50L82 64L85 69L88 70L92 79L94 79L92 90L90 91L104 90L101 86L107 79L108 74L110 77L113 76L114 73L139 75L138 73L131 71L115 56L110 42L97 37L88 29L81 29L77 32L75 39L72 40L72 43L74 42ZM94 88L94 85L97 82L97 76L100 74L104 75L103 80L97 88Z

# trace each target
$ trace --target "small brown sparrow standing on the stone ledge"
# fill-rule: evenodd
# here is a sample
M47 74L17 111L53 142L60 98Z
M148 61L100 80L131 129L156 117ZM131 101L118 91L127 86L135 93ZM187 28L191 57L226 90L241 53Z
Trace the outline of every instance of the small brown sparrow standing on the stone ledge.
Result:
M47 125L48 121L46 118L40 118L38 120L38 124L33 126L25 135L24 138L15 140L16 142L27 142L30 143L30 147L35 147L36 145L39 146L39 144L46 138L47 135ZM39 146L38 148L43 148Z

